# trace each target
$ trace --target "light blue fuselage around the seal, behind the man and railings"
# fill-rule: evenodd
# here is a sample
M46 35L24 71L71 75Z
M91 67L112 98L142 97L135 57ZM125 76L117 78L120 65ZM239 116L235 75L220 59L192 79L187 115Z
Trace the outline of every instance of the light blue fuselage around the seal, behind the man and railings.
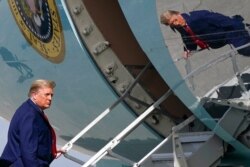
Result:
M57 83L52 107L46 112L61 139L69 141L118 96L92 62L85 48L80 47L61 2L57 8L65 39L65 58L56 64L42 57L22 35L7 1L0 1L0 115L10 119L16 108L27 99L31 82L38 78ZM76 144L97 151L135 119L124 105L119 105L84 139ZM115 125L115 126L114 126ZM121 152L129 158L139 158L161 138L141 125L122 143ZM63 143L63 142L62 142ZM64 141L65 143L65 141ZM134 145L142 149L131 152ZM146 147L145 147L146 145Z

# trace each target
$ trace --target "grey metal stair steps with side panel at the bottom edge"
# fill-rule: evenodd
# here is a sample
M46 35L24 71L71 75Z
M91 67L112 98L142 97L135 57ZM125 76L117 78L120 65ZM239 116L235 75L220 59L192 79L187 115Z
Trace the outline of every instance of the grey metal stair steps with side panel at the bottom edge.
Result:
M141 166L216 166L224 154L222 140L212 132L176 133L172 145L173 152L152 154L150 161Z

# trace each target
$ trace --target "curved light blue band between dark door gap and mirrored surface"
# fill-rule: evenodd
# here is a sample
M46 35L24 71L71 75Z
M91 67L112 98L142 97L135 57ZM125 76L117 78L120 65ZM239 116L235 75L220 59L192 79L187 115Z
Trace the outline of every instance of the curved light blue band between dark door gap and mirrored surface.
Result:
M165 47L159 26L156 2L154 0L119 0L119 3L140 46L174 93L206 126L234 146L237 151L249 155L248 148L216 125L216 122L199 105L197 99L186 86Z

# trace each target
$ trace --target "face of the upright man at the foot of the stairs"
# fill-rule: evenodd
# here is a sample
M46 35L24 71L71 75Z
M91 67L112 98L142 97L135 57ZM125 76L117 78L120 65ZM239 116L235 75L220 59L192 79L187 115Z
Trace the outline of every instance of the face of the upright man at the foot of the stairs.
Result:
M34 92L33 99L42 110L45 110L50 107L53 95L52 88L44 87Z

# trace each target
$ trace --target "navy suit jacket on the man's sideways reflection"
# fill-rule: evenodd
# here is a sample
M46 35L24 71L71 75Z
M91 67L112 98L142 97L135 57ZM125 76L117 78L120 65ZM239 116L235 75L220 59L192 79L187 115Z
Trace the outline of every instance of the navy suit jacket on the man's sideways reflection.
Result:
M240 36L239 30L244 28L242 20L207 10L194 11L190 16L184 15L184 17L194 33L200 35L200 38L212 48L233 43L232 40ZM188 49L192 48L192 45L186 43Z

